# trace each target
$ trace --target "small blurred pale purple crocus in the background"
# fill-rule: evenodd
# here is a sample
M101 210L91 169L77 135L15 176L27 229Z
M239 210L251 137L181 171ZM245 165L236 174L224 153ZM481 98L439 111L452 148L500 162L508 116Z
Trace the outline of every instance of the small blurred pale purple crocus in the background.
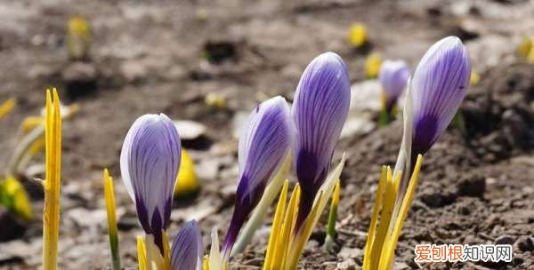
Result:
M409 79L409 67L402 60L385 60L380 67L378 80L384 89L384 109L391 113Z

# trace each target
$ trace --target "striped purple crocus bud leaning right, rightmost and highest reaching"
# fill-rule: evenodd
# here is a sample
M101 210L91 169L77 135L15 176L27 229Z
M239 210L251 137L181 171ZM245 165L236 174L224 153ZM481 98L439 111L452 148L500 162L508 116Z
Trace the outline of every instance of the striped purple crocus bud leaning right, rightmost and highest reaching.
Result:
M441 39L425 53L410 88L412 157L424 155L447 128L465 97L470 76L471 60L456 36Z

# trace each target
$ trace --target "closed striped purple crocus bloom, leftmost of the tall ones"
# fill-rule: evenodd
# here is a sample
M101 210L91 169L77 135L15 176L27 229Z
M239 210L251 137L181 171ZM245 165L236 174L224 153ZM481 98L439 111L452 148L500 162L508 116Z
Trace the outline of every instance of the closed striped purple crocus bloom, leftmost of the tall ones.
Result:
M166 115L142 115L126 134L120 171L134 200L146 234L163 250L161 231L171 215L173 190L180 167L181 145L174 123Z

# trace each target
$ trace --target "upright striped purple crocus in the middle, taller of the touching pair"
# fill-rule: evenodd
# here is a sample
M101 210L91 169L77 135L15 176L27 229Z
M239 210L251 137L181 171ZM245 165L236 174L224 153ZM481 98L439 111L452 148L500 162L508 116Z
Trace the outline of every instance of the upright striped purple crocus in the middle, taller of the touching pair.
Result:
M351 99L344 61L325 52L306 67L291 110L296 127L295 171L302 188L296 227L312 209L327 178L334 147L346 120Z

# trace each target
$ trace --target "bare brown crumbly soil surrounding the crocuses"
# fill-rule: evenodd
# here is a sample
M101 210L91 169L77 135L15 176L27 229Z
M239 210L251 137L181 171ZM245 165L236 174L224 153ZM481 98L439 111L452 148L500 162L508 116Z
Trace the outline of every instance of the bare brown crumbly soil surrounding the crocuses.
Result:
M433 42L456 35L468 47L481 82L461 107L465 124L449 128L425 155L394 268L418 268L413 262L418 243L498 242L514 245L511 263L424 268L534 269L534 66L514 55L522 36L534 33L533 13L534 4L522 0L2 1L0 101L15 97L18 106L0 120L0 166L9 161L22 119L40 113L44 88L57 86L64 103L81 107L63 125L60 267L109 268L101 180L101 171L109 168L117 179L121 257L126 269L134 269L135 235L142 229L120 181L118 156L136 117L162 112L208 127L202 139L184 142L201 190L175 202L169 228L172 236L184 220L197 218L207 245L211 228L223 234L231 217L236 115L266 97L291 100L303 68L320 52L339 53L352 81L360 82L368 52L407 60L414 68ZM67 56L65 26L74 15L83 15L93 28L90 58L83 62ZM365 50L353 50L346 41L356 21L368 26ZM226 99L225 109L206 107L204 97L211 92ZM299 268L360 268L380 166L395 162L400 141L400 121L340 140L335 162L345 152L348 163L338 247L320 248L321 220ZM30 179L23 182L36 218L26 225L0 218L0 230L16 232L0 242L0 269L40 266L42 190ZM233 268L261 268L270 220L232 260Z

